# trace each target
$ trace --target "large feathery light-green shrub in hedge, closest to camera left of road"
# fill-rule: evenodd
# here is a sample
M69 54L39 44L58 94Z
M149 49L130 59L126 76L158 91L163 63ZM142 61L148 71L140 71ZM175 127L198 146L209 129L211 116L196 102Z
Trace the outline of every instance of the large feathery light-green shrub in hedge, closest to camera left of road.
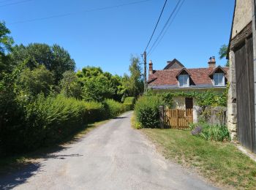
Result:
M39 96L27 107L26 140L27 149L60 142L86 123L86 105L64 96Z

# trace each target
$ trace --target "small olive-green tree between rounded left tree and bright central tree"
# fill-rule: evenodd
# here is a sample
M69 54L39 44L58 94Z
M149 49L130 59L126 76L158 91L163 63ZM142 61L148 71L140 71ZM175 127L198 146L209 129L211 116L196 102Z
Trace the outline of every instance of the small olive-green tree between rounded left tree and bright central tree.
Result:
M73 71L64 72L60 83L61 94L66 97L74 97L80 99L82 95L82 88L78 83L78 76Z

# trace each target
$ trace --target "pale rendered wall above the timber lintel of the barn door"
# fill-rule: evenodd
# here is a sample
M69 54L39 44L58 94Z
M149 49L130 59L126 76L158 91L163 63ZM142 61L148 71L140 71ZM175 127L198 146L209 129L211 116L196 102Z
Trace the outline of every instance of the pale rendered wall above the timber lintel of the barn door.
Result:
M236 0L232 39L252 21L252 0Z

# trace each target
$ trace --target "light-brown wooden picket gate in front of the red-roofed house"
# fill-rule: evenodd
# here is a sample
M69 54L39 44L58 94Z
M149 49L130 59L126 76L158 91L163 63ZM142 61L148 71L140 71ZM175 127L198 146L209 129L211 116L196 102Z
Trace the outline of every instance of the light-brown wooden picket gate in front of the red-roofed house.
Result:
M193 123L193 109L167 109L164 111L165 126L171 129L187 129Z

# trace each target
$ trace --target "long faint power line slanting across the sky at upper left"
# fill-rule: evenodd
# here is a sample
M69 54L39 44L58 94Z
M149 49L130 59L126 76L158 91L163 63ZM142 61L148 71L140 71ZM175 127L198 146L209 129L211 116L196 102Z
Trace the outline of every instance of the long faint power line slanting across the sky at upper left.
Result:
M32 1L32 0L29 0L29 1ZM126 4L118 4L118 5L108 6L108 7L88 9L88 10L83 10L83 11L80 11L80 12L69 12L69 13L60 14L60 15L52 15L52 16L48 16L48 17L44 17L44 18L34 18L34 19L30 19L30 20L21 20L21 21L17 21L17 22L14 22L14 23L10 23L10 25L14 25L14 24L18 24L18 23L30 23L30 22L34 22L34 21L38 21L38 20L48 20L48 19L51 19L51 18L67 17L67 16L70 16L70 15L78 15L78 14L83 13L83 12L96 12L96 11L101 11L101 10L105 10L105 9L114 9L114 8L118 8L118 7L129 6L129 5L132 5L132 4L141 4L141 3L145 3L147 1L152 1L152 0L133 1L133 2L130 2L130 3L126 3Z

